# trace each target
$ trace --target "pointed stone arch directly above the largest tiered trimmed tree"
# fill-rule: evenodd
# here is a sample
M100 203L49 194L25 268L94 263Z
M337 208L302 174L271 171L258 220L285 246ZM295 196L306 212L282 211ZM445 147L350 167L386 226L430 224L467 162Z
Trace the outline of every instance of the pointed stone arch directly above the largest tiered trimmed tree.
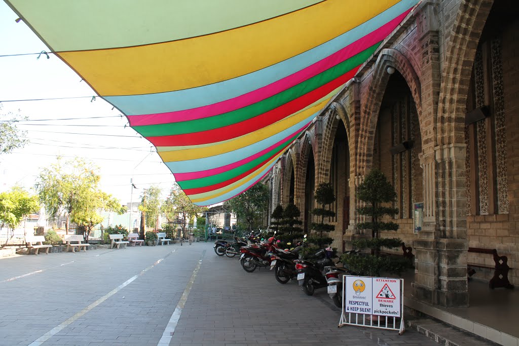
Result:
M370 153L372 151L371 148L373 148L378 113L380 112L380 105L391 76L387 72L388 67L394 67L404 77L416 105L420 130L423 128L424 119L422 118L421 111L421 85L413 65L398 50L382 49L375 63L370 85L366 89L367 94L364 98L365 102L361 115L359 155L357 158L358 171L361 173L365 173L371 169L373 160ZM422 141L424 141L423 136Z

